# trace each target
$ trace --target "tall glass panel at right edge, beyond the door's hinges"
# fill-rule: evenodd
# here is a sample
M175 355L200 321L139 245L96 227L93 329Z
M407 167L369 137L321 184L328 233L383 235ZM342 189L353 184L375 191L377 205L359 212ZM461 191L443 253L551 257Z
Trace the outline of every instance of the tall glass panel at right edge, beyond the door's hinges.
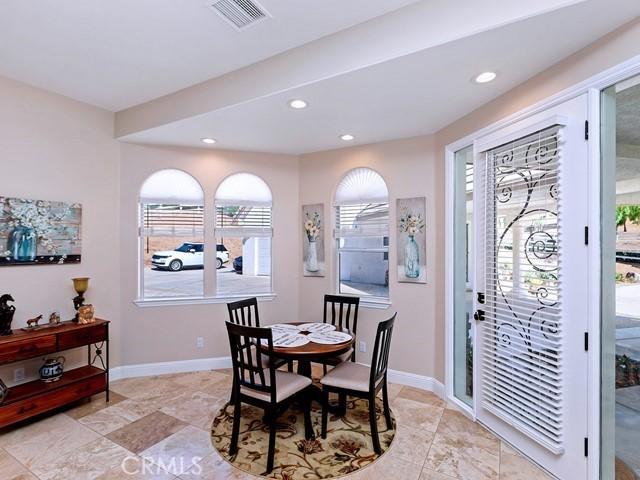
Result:
M602 478L636 479L640 478L640 77L606 89L601 111Z

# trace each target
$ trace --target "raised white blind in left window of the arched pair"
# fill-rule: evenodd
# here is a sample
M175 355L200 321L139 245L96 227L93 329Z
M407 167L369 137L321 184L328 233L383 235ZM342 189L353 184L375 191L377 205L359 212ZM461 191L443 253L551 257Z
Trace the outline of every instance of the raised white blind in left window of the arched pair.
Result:
M202 205L142 204L142 234L162 237L202 237Z

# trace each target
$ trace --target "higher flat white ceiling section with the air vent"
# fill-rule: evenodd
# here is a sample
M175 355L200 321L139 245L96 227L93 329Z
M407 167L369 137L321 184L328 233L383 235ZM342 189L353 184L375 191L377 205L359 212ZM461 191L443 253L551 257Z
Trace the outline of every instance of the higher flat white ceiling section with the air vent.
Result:
M2 0L0 75L118 111L417 0L260 0L237 32L206 0Z

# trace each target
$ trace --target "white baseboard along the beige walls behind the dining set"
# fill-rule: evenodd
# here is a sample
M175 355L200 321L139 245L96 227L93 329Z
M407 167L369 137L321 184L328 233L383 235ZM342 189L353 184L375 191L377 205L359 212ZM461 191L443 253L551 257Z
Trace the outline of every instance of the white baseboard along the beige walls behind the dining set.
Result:
M195 360L178 360L175 362L141 363L114 367L109 371L111 381L133 377L151 377L170 373L199 372L203 370L219 370L231 368L231 357L197 358ZM388 379L392 383L420 388L445 398L444 385L433 377L415 373L387 370Z

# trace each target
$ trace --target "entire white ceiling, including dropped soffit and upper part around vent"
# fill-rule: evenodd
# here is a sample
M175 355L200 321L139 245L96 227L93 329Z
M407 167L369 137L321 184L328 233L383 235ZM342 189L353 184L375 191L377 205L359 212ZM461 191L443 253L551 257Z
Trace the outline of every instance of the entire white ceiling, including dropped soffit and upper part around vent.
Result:
M0 75L119 111L125 141L300 154L433 133L640 15L638 0L260 3L273 18L237 32L206 0L1 0ZM471 81L485 70L497 80Z

